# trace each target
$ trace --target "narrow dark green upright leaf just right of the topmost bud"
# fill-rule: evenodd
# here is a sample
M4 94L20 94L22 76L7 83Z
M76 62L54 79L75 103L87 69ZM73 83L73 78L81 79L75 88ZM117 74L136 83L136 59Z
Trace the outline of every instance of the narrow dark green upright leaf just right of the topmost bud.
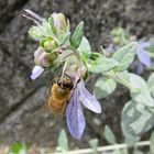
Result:
M72 44L75 48L78 48L78 46L79 46L79 44L80 44L80 42L81 42L81 40L82 40L82 36L84 36L84 22L80 22L80 23L77 25L77 28L76 28L76 30L75 30L75 32L74 32L72 38L70 38L70 44Z

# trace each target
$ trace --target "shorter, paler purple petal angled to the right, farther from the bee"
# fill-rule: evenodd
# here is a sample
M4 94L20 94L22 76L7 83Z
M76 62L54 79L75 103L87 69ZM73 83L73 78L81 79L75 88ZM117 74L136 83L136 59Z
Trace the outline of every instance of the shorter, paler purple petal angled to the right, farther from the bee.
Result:
M78 82L77 88L82 105L96 113L101 113L101 107L99 101L85 88L82 79Z

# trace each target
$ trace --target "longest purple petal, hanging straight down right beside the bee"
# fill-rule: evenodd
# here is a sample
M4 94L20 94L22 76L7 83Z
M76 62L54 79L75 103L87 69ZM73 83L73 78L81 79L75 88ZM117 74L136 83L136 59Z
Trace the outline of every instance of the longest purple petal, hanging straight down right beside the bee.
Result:
M67 125L73 138L79 140L84 133L86 121L82 107L78 99L78 90L75 89L66 109Z

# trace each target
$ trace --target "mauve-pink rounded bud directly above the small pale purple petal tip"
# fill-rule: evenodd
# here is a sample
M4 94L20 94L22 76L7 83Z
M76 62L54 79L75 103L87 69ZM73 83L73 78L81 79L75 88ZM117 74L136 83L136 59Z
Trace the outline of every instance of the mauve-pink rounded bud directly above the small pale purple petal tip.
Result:
M43 48L38 48L34 53L35 64L42 67L52 66L56 57L57 57L56 53L47 53Z

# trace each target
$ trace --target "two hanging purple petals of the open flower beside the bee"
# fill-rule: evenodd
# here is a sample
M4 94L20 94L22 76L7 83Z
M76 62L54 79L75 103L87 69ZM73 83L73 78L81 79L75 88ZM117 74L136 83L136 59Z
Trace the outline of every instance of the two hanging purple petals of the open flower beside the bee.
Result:
M84 80L77 84L76 89L66 109L67 125L73 138L79 140L84 133L86 121L81 103L89 110L101 113L99 101L85 88Z

